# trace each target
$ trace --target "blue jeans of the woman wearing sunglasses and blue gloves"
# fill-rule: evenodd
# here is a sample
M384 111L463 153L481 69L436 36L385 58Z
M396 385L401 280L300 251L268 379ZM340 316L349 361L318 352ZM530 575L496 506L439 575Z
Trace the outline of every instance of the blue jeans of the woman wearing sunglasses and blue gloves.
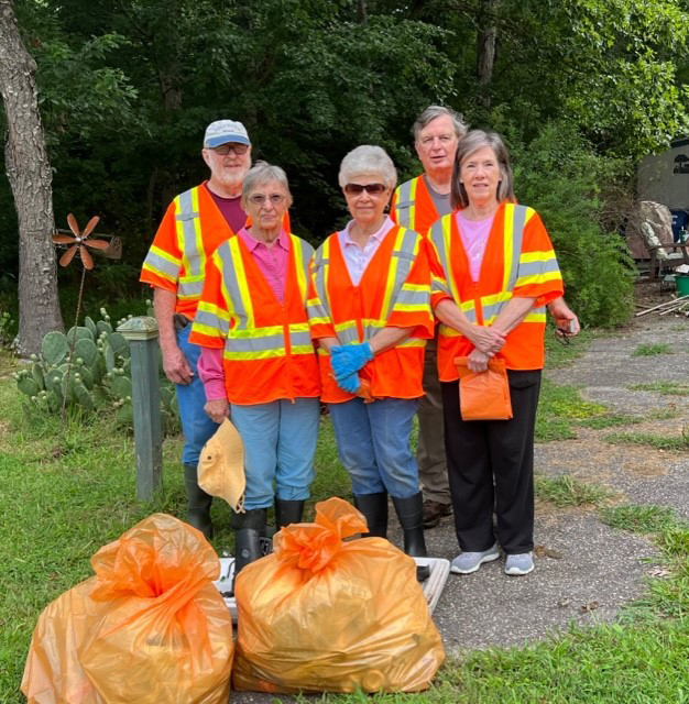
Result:
M340 462L354 494L387 492L395 498L418 493L418 466L409 447L415 398L352 398L329 404Z

